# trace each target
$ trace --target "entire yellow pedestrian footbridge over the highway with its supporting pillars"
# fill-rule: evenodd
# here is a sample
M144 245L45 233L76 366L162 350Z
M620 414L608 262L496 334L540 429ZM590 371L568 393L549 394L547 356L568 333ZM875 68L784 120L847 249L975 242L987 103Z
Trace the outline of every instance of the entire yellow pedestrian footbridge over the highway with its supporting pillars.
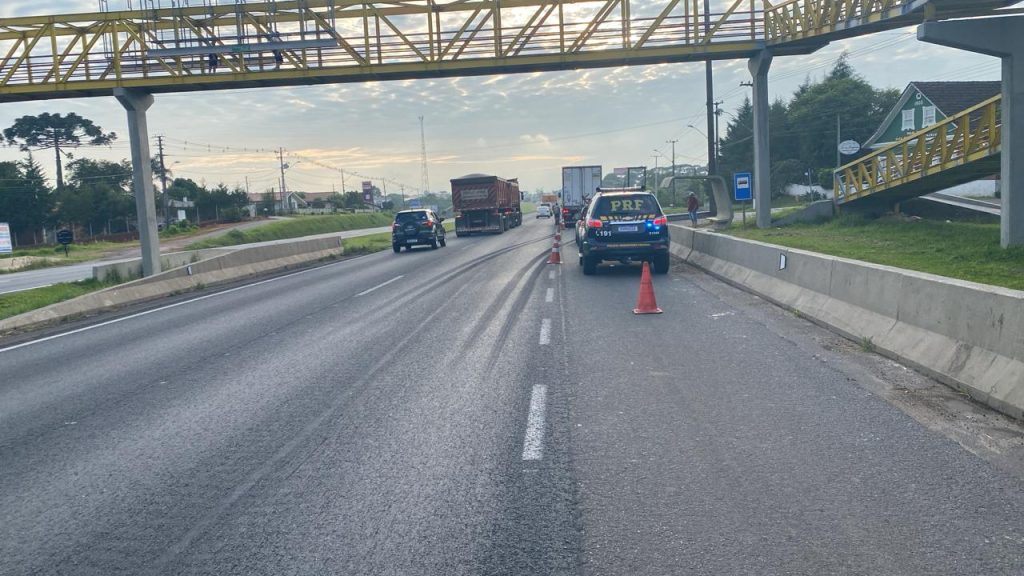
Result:
M139 10L0 18L0 102L117 97L128 115L150 276L160 272L146 128L153 94L748 58L757 220L768 227L768 71L775 56L914 24L959 26L965 22L938 20L1012 13L1000 8L1018 1L145 0ZM966 24L976 22L983 20ZM1024 24L1019 28L980 33L1004 39L994 48L949 45L1006 61L1018 50L1012 40L1024 34ZM1024 90L1017 92L1024 100ZM1024 244L1024 200L1008 210L1012 195L1004 196L1004 245ZM1017 222L1014 232L1007 222Z

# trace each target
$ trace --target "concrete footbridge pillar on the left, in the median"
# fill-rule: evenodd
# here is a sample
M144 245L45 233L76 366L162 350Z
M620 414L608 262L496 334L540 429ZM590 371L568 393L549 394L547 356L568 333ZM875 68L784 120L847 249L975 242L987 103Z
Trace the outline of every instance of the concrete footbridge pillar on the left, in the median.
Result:
M153 95L115 88L114 96L128 113L132 183L135 189L135 211L138 215L138 238L142 244L142 276L153 276L160 274L157 202L153 192L153 166L150 164L150 129L145 122L145 111L153 106Z

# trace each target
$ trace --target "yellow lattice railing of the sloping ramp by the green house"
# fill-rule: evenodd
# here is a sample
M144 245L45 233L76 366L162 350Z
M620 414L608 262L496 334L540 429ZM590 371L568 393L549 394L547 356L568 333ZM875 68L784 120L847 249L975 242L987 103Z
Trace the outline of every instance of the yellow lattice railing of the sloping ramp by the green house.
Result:
M840 167L836 170L837 202L892 190L997 154L1001 101L1002 96L994 96Z

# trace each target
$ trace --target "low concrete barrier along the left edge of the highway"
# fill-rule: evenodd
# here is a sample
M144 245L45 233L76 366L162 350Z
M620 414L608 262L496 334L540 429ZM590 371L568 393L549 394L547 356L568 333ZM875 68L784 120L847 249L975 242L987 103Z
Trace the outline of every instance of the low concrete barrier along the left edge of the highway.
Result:
M186 263L167 272L0 320L0 334L11 330L36 328L202 286L285 270L342 253L344 253L342 239L316 238L252 246L221 254L211 253L208 254L210 257L195 262L190 261L191 255L188 255ZM179 260L172 259L172 261ZM106 272L110 273L111 270L117 269L110 269Z

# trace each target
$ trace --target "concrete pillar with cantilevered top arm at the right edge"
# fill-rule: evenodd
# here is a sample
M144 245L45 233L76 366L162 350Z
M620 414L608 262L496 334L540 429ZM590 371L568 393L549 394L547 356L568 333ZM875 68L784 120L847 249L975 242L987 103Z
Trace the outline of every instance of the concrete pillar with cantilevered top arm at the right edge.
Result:
M1024 246L1024 16L929 22L918 28L918 39L1002 58L999 237L1004 248ZM1014 162L1014 142L1021 145L1020 162Z

